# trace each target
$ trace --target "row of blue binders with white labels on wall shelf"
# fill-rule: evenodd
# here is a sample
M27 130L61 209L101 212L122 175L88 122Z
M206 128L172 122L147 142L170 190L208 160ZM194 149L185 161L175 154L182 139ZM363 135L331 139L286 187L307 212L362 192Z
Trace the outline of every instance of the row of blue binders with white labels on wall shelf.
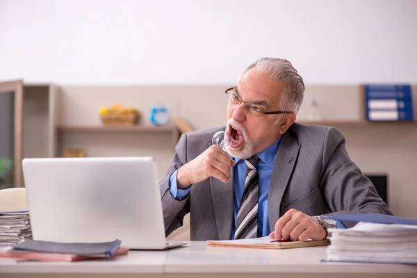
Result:
M365 85L366 117L372 122L414 120L411 85Z

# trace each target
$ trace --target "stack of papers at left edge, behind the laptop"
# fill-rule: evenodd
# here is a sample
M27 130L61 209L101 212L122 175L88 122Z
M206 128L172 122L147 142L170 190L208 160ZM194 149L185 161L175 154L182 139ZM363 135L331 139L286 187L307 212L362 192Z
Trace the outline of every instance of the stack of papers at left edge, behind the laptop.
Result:
M27 211L0 213L0 247L15 245L32 238L31 221Z

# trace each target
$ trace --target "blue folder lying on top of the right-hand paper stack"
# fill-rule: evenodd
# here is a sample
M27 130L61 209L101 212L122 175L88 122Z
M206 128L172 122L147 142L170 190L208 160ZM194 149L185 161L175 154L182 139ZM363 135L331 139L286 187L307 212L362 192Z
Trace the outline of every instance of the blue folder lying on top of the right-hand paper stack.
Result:
M417 219L402 218L393 215L384 215L377 213L354 213L354 214L341 214L341 215L329 215L334 220L347 221L347 222L371 222L379 224L409 224L417 225Z

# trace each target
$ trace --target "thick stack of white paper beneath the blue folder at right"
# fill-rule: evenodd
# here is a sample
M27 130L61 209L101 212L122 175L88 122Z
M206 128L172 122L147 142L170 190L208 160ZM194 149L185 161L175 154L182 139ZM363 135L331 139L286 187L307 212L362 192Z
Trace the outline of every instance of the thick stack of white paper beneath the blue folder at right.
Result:
M417 226L359 222L332 231L327 261L417 264Z

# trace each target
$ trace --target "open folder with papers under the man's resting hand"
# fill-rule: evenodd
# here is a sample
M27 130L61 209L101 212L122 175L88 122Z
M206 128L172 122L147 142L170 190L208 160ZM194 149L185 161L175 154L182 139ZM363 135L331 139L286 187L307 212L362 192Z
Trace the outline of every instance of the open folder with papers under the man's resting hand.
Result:
M206 245L215 247L240 247L240 248L260 248L260 249L289 249L300 247L311 247L329 245L330 241L324 240L272 240L269 236L263 238L237 239L237 240L207 240Z

